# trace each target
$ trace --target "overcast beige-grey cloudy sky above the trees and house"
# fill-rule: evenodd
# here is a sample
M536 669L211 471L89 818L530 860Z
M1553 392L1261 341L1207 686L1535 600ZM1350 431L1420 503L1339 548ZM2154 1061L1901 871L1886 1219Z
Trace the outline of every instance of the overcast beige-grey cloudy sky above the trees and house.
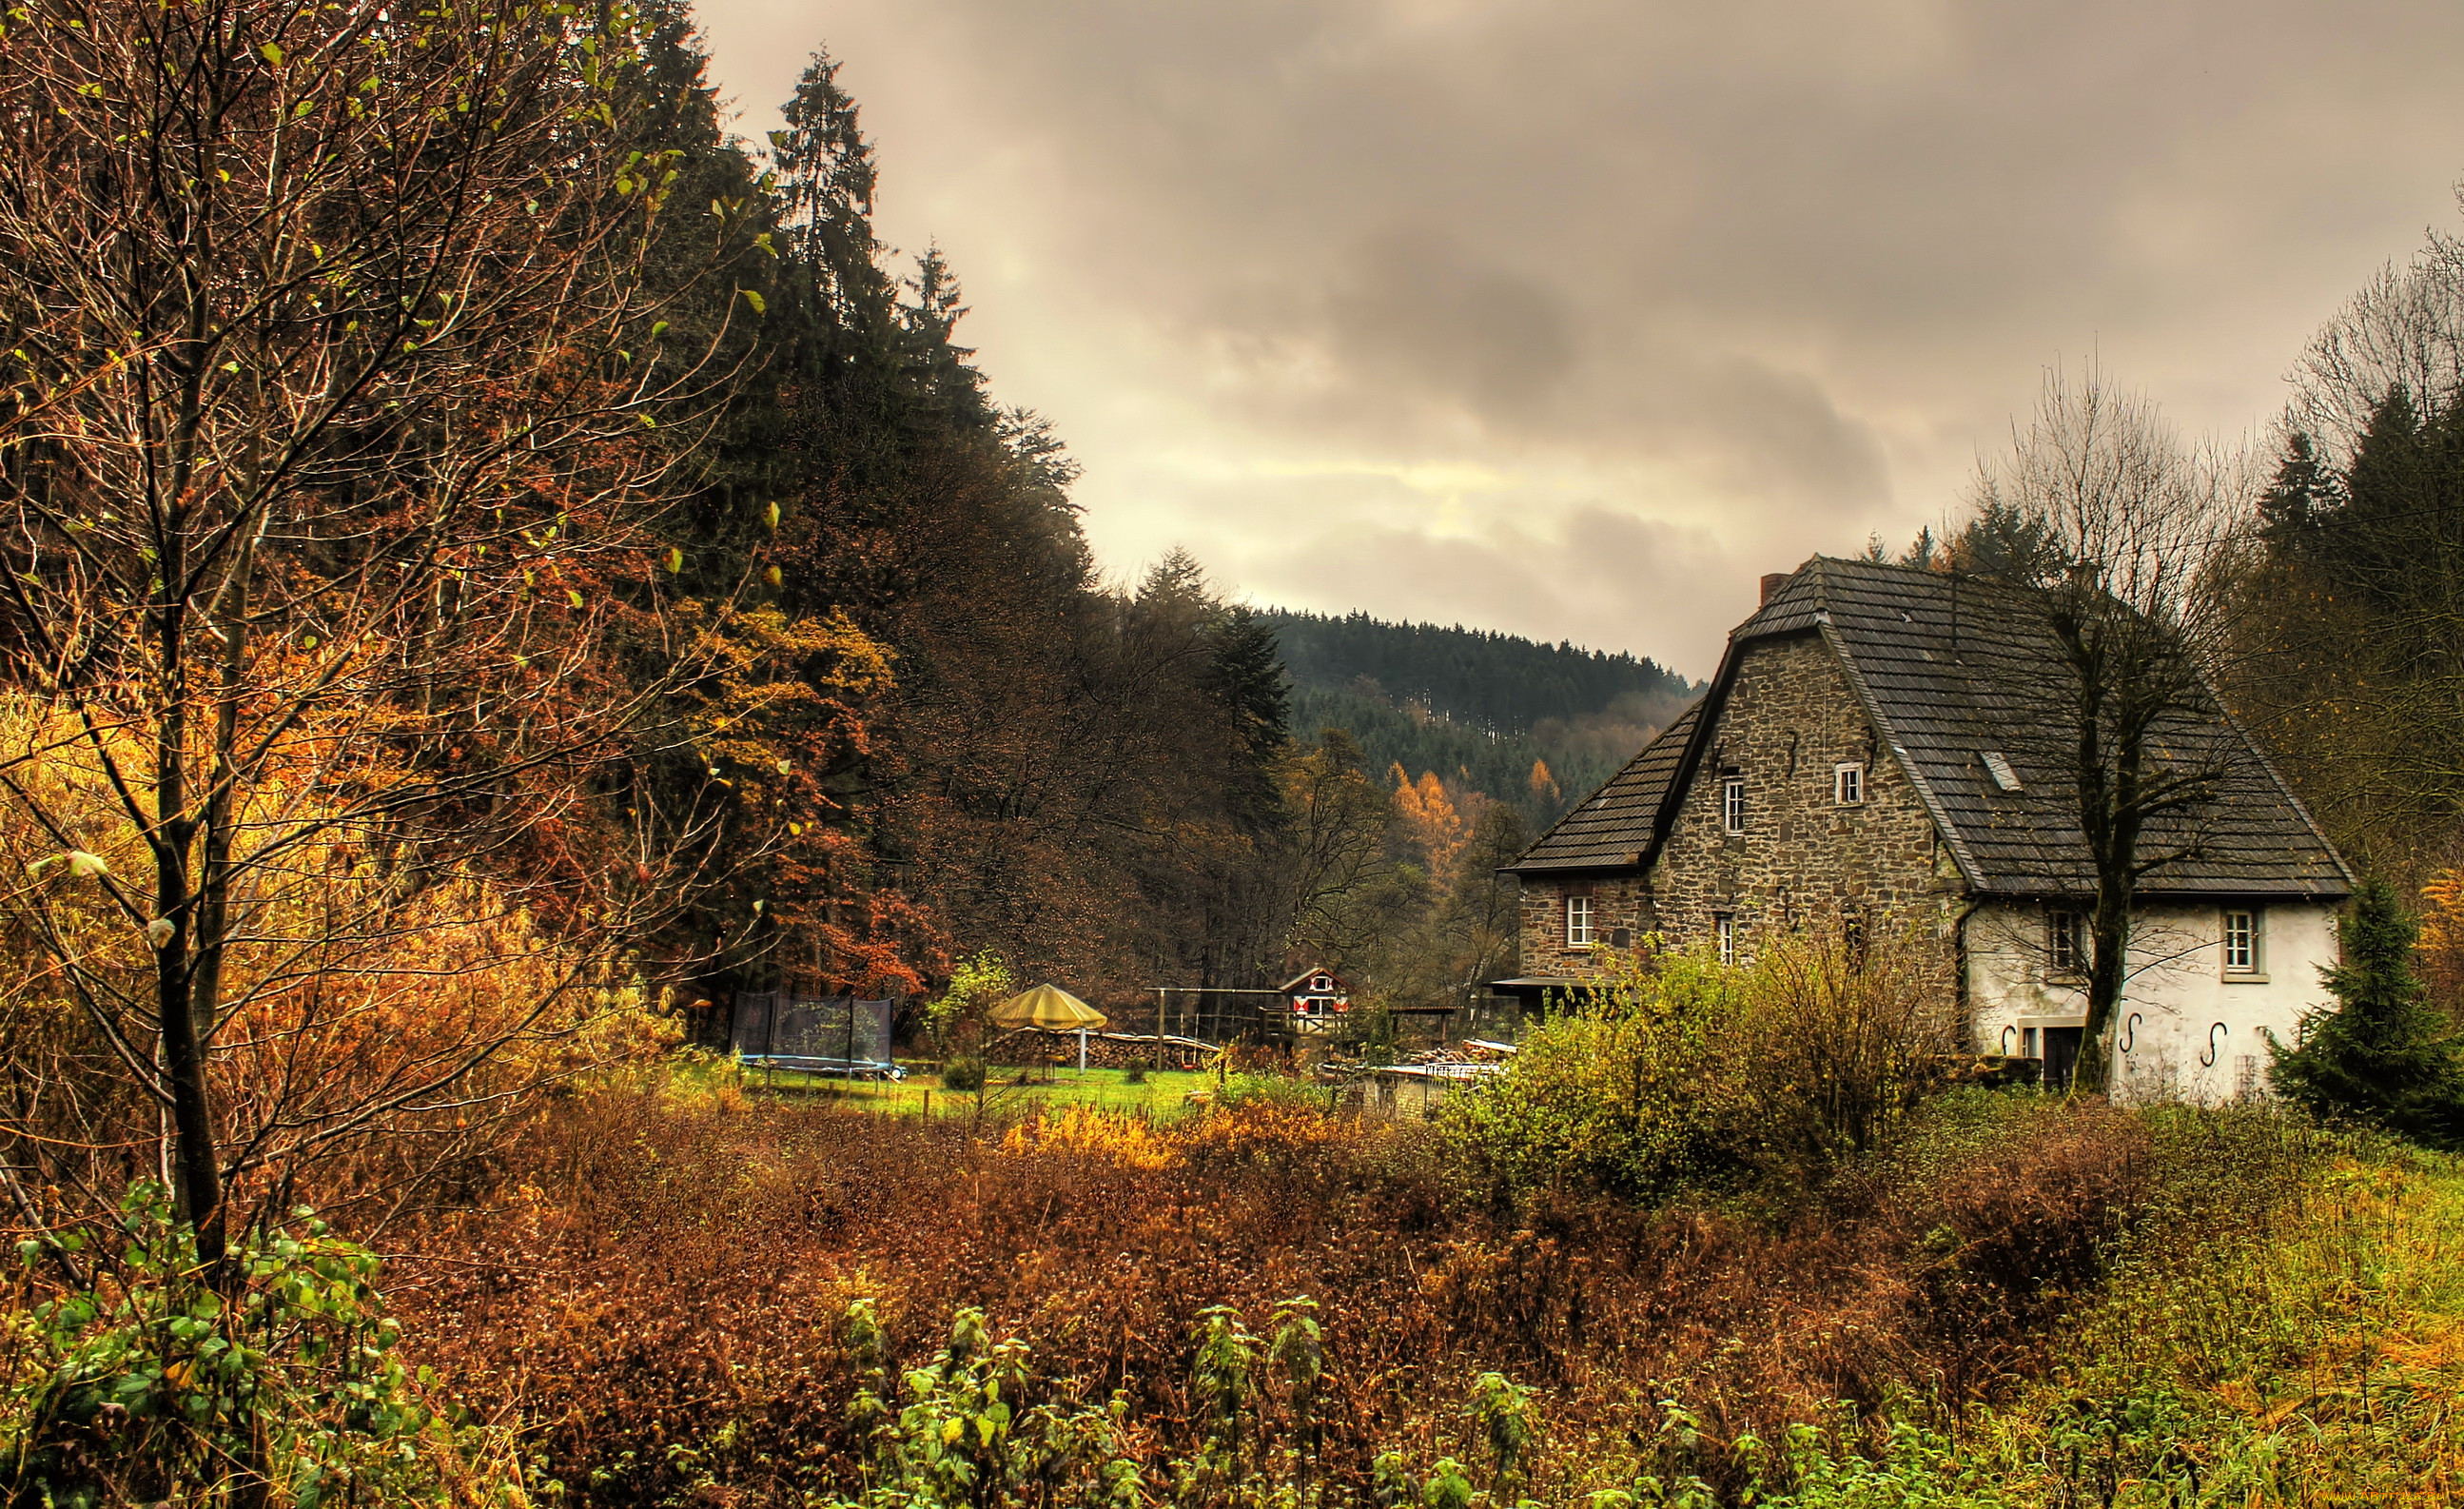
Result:
M705 0L816 47L1114 575L1708 673L1956 505L2050 362L2262 434L2457 222L2464 5Z

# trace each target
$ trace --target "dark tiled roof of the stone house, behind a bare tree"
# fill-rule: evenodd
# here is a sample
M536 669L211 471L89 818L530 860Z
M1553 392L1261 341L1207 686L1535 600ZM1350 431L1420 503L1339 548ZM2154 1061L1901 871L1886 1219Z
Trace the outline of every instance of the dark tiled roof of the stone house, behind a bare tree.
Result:
M2030 644L2035 616L2008 587L1863 560L1806 562L1781 582L1752 619L1730 634L1730 653L1703 705L1717 705L1735 673L1737 651L1777 634L1818 631L1841 656L1882 740L1917 784L1942 826L1959 868L1979 893L2085 895L2094 888L2077 796L2057 759L2048 759L2045 715L2028 705L2025 666L2045 653ZM1693 713L1683 727L1693 727ZM1515 865L1518 870L1607 868L1611 853L1648 853L1666 833L1683 779L1698 759L1698 737L1668 752L1661 735L1599 796L1567 814ZM2001 754L2018 791L2006 791L1986 764ZM2341 898L2351 873L2267 767L2257 747L2220 708L2178 715L2161 727L2158 754L2181 764L2215 764L2225 774L2213 801L2163 814L2149 824L2139 853L2163 858L2141 893L2163 895L2319 895ZM1648 772L1648 774L1646 774ZM1643 819L1621 787L1651 791ZM1602 809L1579 846L1560 833ZM1616 814L1611 819L1611 811ZM1557 856L1582 858L1557 858ZM1624 863L1636 863L1626 858Z

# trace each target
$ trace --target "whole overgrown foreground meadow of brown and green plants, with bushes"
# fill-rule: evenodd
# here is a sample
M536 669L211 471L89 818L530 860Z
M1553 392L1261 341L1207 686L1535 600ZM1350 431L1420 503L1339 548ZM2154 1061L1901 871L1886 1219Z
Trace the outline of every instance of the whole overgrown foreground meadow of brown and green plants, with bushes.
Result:
M150 1196L121 1238L22 1240L12 1502L2154 1507L2464 1482L2449 1161L2272 1107L1947 1082L1915 1053L1804 1078L1821 1063L1749 1023L1789 1021L1818 947L1636 974L1432 1122L1266 1073L1180 1114L877 1114L641 1033L419 1208L301 1211L222 1267ZM1836 984L1887 1018L1890 979Z

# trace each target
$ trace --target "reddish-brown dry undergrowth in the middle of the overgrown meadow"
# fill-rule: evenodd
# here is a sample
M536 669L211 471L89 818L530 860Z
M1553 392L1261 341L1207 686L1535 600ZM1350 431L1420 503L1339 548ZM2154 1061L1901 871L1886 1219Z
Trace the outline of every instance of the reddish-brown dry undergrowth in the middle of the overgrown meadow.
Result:
M471 1403L517 1405L589 1504L848 1484L835 1322L857 1294L909 1351L983 1304L1087 1396L1129 1391L1148 1462L1193 1445L1198 1312L1257 1327L1311 1294L1338 1479L1365 1482L1387 1445L1456 1447L1464 1383L1498 1368L1542 1391L1555 1445L1533 1487L1552 1497L1614 1472L1661 1398L1732 1437L1836 1398L1993 1396L2131 1228L2232 1218L2168 1181L2178 1159L2126 1112L1961 1117L1781 1218L1577 1191L1498 1218L1456 1198L1422 1129L1220 1112L1175 1156L1126 1159L1084 1129L1003 1147L643 1087L542 1114L513 1193L426 1230L392 1287L414 1351Z

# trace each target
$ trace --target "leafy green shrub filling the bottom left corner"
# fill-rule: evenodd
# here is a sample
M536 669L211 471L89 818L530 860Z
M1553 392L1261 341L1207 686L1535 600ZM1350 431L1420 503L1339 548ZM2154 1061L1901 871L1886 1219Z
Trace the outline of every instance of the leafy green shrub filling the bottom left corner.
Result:
M121 1208L126 1248L99 1277L10 1309L0 1341L7 1499L59 1509L520 1502L503 1442L431 1410L394 1356L377 1258L298 1216L303 1235L241 1243L217 1275L160 1191L138 1186ZM59 1250L81 1243L62 1235ZM27 1277L57 1258L34 1240L17 1255ZM488 1452L498 1455L493 1477L471 1467Z

